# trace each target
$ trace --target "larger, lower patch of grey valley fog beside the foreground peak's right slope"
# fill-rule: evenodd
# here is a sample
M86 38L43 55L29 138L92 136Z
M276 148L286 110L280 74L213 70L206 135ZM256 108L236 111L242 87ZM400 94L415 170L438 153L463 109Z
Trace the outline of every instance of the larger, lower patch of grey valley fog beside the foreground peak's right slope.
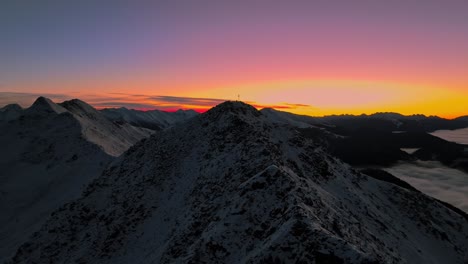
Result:
M400 163L386 171L416 189L468 213L468 174L438 161Z

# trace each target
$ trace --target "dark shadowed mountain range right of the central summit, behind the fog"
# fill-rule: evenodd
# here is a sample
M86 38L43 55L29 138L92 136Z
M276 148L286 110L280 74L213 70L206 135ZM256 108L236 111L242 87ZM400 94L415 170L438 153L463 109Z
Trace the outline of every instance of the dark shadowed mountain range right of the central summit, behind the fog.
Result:
M309 117L273 109L261 111L278 123L293 125L306 137L322 141L329 151L353 165L384 165L399 160L438 160L468 171L468 146L447 142L428 132L468 127L468 118L378 113L361 116ZM408 154L402 148L416 149Z

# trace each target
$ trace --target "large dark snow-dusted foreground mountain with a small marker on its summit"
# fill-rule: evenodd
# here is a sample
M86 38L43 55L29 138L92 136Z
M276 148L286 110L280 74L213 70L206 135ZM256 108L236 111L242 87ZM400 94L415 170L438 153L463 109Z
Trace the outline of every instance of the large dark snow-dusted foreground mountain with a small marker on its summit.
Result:
M468 222L240 102L152 135L12 263L463 263Z

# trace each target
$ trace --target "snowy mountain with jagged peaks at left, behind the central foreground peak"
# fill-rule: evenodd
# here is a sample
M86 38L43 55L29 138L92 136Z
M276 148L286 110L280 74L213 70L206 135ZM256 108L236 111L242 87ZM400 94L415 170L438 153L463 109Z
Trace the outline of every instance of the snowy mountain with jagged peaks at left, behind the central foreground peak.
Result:
M78 100L58 105L43 97L1 120L0 131L0 263L53 210L78 198L113 156L148 135Z

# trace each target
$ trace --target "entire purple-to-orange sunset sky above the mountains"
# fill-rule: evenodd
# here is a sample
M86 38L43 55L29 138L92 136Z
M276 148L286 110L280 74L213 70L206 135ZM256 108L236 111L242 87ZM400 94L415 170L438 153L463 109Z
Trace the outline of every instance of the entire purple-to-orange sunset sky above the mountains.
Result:
M468 114L466 1L77 2L0 4L1 102Z

